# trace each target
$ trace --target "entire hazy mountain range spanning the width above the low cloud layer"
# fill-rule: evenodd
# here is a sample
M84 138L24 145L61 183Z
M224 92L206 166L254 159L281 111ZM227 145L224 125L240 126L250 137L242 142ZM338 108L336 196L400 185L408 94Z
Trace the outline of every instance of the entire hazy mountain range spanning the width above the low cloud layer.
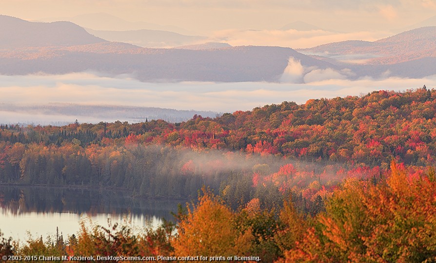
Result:
M343 41L296 51L271 46L232 47L224 43L143 48L96 37L89 32L97 31L87 32L72 22L29 22L0 16L0 24L3 75L87 71L127 74L147 82L274 82L283 79L290 61L304 69L301 74L330 69L346 72L343 76L350 79L436 74L436 27L418 28L374 42ZM163 37L167 33L146 34Z

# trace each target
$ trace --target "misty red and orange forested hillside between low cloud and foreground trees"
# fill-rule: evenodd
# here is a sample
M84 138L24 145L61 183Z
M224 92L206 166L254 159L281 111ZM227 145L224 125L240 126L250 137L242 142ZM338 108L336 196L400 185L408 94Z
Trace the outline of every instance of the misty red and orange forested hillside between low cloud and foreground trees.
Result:
M253 197L273 206L267 198L288 191L314 200L350 175L379 180L392 160L434 165L435 96L379 91L182 123L1 125L0 181L161 198L195 197L205 184L233 207Z

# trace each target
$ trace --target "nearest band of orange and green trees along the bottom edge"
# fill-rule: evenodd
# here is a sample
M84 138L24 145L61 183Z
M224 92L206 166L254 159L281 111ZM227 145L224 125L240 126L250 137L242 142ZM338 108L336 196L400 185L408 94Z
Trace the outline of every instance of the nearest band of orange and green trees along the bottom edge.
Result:
M233 210L203 188L198 203L176 215L177 225L167 223L142 234L125 226L82 225L78 235L63 237L58 231L25 245L3 238L0 254L14 255L17 262L26 255L165 256L178 262L184 262L177 260L182 256L217 255L278 263L435 262L435 196L434 170L416 175L395 163L377 184L356 177L344 180L314 217L299 213L290 197L278 216L262 210L257 198Z

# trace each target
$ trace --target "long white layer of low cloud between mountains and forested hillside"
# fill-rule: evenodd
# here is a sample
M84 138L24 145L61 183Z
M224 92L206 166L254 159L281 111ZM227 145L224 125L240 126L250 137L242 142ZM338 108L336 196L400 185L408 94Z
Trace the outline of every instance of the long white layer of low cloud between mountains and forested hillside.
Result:
M424 79L344 79L346 72L314 69L311 82L294 83L143 83L131 78L101 77L89 73L68 75L0 76L0 103L126 105L234 112L265 104L311 98L366 94L374 90L404 91L436 86L436 76ZM324 77L319 77L324 76ZM1 117L0 117L1 118ZM0 120L1 121L1 120Z

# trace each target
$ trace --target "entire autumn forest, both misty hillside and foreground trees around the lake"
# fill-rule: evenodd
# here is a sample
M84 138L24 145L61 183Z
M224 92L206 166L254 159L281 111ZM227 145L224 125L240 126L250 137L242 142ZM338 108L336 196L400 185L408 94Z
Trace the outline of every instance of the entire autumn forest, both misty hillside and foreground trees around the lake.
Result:
M436 90L425 86L181 123L1 124L2 185L196 201L143 234L83 224L26 244L2 236L0 254L435 262L435 164Z

